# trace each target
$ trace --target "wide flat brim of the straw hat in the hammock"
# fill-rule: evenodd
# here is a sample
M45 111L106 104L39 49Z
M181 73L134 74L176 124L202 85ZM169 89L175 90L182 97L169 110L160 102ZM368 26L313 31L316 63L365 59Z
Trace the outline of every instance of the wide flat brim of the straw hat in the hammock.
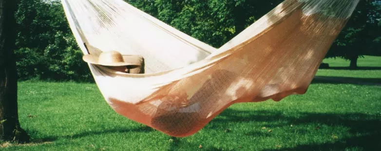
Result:
M123 59L128 60L128 56L122 55ZM93 55L84 55L82 57L83 61L91 64L103 65L103 66L133 66L140 67L140 64L130 63L130 62L98 62L98 57Z

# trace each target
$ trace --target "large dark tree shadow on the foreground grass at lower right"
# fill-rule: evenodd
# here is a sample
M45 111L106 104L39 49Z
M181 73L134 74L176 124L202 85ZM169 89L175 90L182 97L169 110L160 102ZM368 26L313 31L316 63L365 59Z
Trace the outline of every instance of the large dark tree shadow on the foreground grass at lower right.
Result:
M298 113L298 115L287 116L279 111L236 111L227 109L212 120L208 129L224 127L228 122L266 122L266 127L284 127L289 125L316 125L329 127L345 127L352 134L350 138L338 139L335 142L324 144L302 144L295 148L277 149L281 151L344 151L347 148L362 148L364 151L376 151L381 149L381 114L363 114L363 113ZM304 131L298 129L299 132ZM307 130L305 130L307 131ZM310 131L310 130L308 130ZM317 129L316 131L319 131ZM254 137L272 137L273 135L260 131L246 132L248 136ZM269 150L272 151L272 150ZM275 150L274 150L275 151Z

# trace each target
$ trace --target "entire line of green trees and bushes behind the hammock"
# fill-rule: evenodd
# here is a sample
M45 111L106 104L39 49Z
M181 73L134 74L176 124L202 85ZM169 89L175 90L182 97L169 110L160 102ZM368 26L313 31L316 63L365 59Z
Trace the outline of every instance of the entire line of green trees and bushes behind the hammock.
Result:
M125 0L211 46L220 47L283 0ZM15 51L20 79L92 81L57 0L20 0ZM381 55L381 0L361 0L326 57Z

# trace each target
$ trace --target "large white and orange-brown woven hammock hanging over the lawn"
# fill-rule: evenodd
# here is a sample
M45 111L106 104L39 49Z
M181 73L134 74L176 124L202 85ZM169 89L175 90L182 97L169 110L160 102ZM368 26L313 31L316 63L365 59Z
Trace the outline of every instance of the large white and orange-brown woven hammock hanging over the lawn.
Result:
M285 0L213 48L123 0L61 0L84 54L145 58L146 74L89 64L116 113L171 136L201 130L240 102L305 94L359 0Z

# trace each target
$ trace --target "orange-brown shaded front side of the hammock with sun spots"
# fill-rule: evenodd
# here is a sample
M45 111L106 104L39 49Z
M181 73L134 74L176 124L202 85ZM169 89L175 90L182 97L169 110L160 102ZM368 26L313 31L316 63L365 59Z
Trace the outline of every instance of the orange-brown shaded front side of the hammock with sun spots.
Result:
M135 104L133 112L126 112L130 106L123 109L118 106L116 112L182 137L199 131L233 103L279 101L290 94L304 94L339 34L333 31L340 31L345 20L305 16L300 9L302 5L293 2L289 5L295 9L283 8L284 4L274 9L271 17L274 20L267 18L273 24L269 30L232 47L229 56L210 68L161 87ZM142 117L137 117L136 112Z

